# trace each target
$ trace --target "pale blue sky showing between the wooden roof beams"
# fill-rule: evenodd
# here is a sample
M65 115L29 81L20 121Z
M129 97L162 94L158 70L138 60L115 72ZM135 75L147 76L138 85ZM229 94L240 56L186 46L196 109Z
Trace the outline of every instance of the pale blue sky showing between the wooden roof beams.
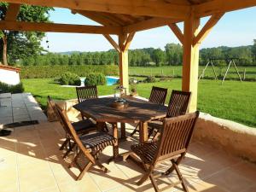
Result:
M229 12L218 21L212 32L201 44L201 48L216 46L240 46L253 44L256 39L256 7ZM201 20L201 26L208 18ZM55 23L99 25L81 15L73 15L68 9L55 9L50 12L50 20ZM182 27L182 26L181 26ZM113 49L102 35L77 33L46 33L49 39L49 51L101 51ZM117 39L113 36L114 39ZM42 45L47 49L46 38ZM131 43L131 49L160 48L164 49L167 43L178 43L177 38L167 26L137 32Z

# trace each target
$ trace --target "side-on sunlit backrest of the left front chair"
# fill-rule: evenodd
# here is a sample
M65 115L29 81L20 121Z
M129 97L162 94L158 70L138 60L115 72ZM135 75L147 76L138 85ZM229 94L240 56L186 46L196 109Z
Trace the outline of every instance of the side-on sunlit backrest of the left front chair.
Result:
M59 113L59 115L61 116L61 119L63 121L63 123L66 125L68 132L70 133L70 136L73 138L73 141L75 143L77 143L77 145L79 146L79 148L84 152L84 154L94 162L94 159L92 158L91 155L88 155L90 152L84 148L84 144L81 142L81 140L79 139L79 136L77 134L77 132L74 130L73 125L70 123L68 117L67 117L67 113L62 110L58 105L55 106L57 109L57 112Z

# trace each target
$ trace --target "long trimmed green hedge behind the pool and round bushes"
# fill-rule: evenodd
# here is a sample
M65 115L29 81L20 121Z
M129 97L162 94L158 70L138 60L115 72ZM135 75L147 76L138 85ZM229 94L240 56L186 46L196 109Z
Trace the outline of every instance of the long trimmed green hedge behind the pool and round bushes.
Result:
M60 77L62 73L70 72L86 77L89 73L104 75L119 75L118 66L24 66L20 67L21 79L47 79Z

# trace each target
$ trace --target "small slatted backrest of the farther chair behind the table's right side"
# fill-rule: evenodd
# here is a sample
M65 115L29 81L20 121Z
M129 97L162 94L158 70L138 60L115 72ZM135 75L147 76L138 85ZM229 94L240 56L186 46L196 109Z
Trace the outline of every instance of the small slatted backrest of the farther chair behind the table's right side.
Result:
M148 102L164 105L166 102L167 91L168 89L153 86Z

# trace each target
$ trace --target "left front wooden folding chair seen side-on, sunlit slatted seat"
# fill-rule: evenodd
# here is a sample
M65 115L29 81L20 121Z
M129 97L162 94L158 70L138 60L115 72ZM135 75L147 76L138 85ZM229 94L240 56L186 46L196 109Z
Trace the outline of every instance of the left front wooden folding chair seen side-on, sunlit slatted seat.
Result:
M99 162L98 155L104 148L116 143L116 139L106 132L94 132L79 136L73 125L67 119L67 114L58 106L56 106L56 109L62 119L62 122L69 130L71 134L70 137L72 137L73 142L76 143L79 148L79 153L73 158L73 161L68 166L69 168L72 166L77 166L79 168L80 173L77 180L80 180L92 165L99 166L103 172L108 172L108 169L105 166L102 166ZM79 162L83 157L87 159L83 160L83 162L85 161L86 163L85 166L82 166Z

